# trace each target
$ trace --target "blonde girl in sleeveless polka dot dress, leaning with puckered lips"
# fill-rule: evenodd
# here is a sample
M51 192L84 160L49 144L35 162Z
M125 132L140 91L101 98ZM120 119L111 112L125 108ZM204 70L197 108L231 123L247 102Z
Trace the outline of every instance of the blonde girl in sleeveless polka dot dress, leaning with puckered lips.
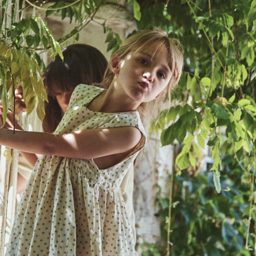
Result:
M139 31L111 58L106 89L75 88L54 134L0 129L1 145L42 155L6 255L136 255L120 184L146 143L137 110L168 98L182 67L177 41Z

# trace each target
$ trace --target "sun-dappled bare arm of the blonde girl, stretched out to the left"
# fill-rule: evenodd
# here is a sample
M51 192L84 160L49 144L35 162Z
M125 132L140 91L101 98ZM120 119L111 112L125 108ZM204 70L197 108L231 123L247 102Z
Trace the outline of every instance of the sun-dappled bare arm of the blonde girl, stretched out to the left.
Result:
M131 151L141 139L135 127L86 129L70 134L0 129L0 145L20 151L67 158L91 159Z

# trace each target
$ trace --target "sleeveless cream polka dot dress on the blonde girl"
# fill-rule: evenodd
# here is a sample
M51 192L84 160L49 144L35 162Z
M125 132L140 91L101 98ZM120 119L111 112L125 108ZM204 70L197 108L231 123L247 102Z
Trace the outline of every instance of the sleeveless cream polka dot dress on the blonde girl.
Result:
M146 135L136 111L101 113L86 105L104 89L78 85L55 134L135 126L143 134L122 162L99 170L93 159L41 156L19 205L6 256L135 256L120 184Z

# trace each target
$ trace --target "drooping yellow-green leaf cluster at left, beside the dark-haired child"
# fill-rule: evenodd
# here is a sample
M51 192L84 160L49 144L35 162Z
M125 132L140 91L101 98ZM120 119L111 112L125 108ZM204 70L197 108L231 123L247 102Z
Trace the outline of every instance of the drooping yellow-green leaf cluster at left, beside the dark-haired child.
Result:
M11 43L8 43L9 41ZM60 45L55 41L49 27L39 17L12 22L12 28L6 29L6 33L0 39L0 98L4 122L9 106L8 93L12 89L10 95L13 97L17 86L23 87L27 114L31 113L38 101L37 115L43 120L44 100L47 100L41 78L44 64L36 50L47 50L49 47L54 54L62 56Z

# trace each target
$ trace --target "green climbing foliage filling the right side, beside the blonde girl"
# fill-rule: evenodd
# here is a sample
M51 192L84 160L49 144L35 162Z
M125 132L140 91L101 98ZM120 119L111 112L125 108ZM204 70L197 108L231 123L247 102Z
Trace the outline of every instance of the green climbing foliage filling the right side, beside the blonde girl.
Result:
M181 149L172 196L159 197L167 239L160 255L256 255L256 0L142 1L141 10L139 29L161 27L185 50L173 107L151 125L163 146ZM208 177L185 174L205 143ZM187 193L175 195L177 187ZM159 244L143 246L159 254Z

